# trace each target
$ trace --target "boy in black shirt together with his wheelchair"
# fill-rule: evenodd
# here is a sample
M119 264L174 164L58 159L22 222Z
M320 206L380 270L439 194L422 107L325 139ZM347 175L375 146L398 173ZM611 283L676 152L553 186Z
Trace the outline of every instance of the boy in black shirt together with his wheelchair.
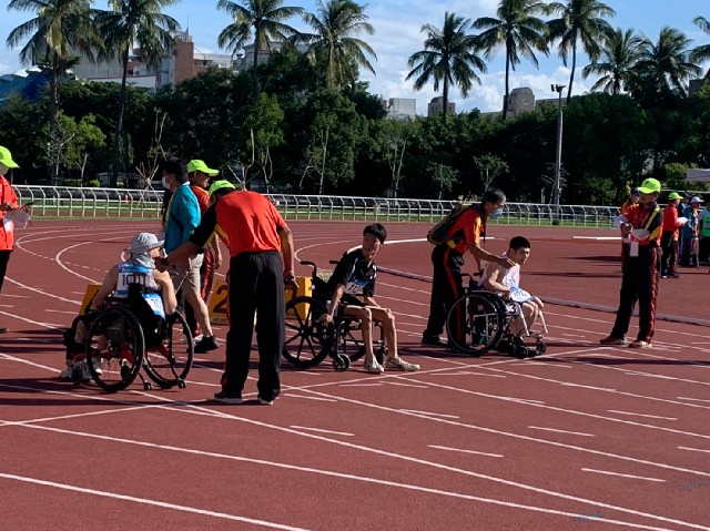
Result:
M346 253L327 277L318 274L315 264L304 263L314 268L314 289L313 297L292 299L287 305L290 313L296 315L296 323L286 324L284 357L293 365L310 367L331 356L335 369L345 370L365 356L365 370L373 374L419 369L398 356L394 314L374 298L374 257L386 237L381 224L367 225L363 245ZM375 329L379 330L378 341L374 340ZM362 339L354 336L356 330L362 333Z

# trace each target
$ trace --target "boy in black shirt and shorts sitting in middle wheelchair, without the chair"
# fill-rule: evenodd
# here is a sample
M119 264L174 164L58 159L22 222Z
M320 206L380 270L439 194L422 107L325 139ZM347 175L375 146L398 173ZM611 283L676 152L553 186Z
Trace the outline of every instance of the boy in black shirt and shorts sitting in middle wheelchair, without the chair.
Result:
M395 316L389 308L383 308L374 298L375 255L387 238L387 231L379 223L367 225L363 231L361 248L346 253L335 266L327 283L327 297L331 302L322 323L333 323L336 313L359 320L365 346L365 370L382 374L387 369L414 371L416 364L409 364L397 354L397 330ZM363 298L358 298L362 296ZM387 356L384 367L379 365L373 351L373 324L379 321L385 333Z

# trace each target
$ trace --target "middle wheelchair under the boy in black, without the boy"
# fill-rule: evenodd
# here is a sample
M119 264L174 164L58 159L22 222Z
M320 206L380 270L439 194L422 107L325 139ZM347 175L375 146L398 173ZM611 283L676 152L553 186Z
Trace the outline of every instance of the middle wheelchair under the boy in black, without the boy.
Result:
M337 264L337 262L331 262ZM359 321L336 313L333 323L321 323L320 318L327 313L327 279L332 270L321 269L314 262L302 261L302 265L311 266L313 272L312 295L294 296L286 303L286 337L283 356L294 367L306 369L314 367L326 357L333 360L335 370L347 370L353 361L365 355L365 347L358 337ZM375 323L379 333L374 333L375 357L381 364L387 355L382 325Z

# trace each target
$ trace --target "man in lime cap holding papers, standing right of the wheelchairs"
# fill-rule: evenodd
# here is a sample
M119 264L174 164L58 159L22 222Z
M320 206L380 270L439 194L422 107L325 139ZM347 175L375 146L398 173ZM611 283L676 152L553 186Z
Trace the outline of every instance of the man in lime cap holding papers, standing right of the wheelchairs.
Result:
M658 266L663 212L657 205L661 183L647 178L639 186L639 203L621 224L623 238L623 273L619 293L619 309L611 334L601 339L602 345L629 345L632 348L651 348L656 326L656 298L658 296ZM639 331L637 339L628 343L631 314L639 304Z

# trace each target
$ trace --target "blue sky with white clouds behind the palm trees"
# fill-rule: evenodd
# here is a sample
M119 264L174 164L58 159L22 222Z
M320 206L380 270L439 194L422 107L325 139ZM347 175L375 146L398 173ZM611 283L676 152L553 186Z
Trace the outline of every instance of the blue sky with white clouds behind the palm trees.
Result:
M559 1L559 0L558 0ZM374 37L364 35L377 53L377 61L373 62L376 75L363 73L363 79L371 83L371 92L384 98L416 98L417 113L426 114L427 102L436 94L430 85L415 92L412 81L405 81L409 71L408 57L424 48L424 33L420 28L425 23L440 28L446 11L475 20L479 17L493 17L498 0L371 0L366 3L366 13L371 23L375 27ZM710 20L710 3L708 0L607 0L617 16L609 19L615 27L622 29L633 28L642 32L651 40L656 40L663 25L677 28L693 39L691 45L707 44L710 35L700 31L692 24L696 16ZM8 2L2 2L7 8ZM285 0L286 6L301 6L308 11L315 11L315 1ZM220 31L230 23L226 13L216 10L216 0L182 0L168 12L173 16L181 25L190 29L195 47L203 52L220 52L216 38ZM105 9L103 0L94 2L94 7ZM9 32L32 18L32 13L10 12L0 10L0 37L2 42L7 40ZM292 21L296 28L303 28L300 20ZM21 68L17 50L8 50L4 45L0 51L0 74L10 73ZM511 72L510 89L516 86L529 86L536 98L554 98L550 92L550 83L567 84L569 70L562 65L561 60L552 51L549 58L538 54L539 69L524 60ZM582 80L579 70L588 64L586 57L578 59L578 71L575 75L574 93L587 92L594 84L594 80ZM707 69L708 64L703 68ZM505 63L503 54L488 62L488 72L480 74L481 85L474 86L467 99L463 99L456 89L450 98L456 102L457 111L478 108L481 111L498 111L501 108L505 93Z

